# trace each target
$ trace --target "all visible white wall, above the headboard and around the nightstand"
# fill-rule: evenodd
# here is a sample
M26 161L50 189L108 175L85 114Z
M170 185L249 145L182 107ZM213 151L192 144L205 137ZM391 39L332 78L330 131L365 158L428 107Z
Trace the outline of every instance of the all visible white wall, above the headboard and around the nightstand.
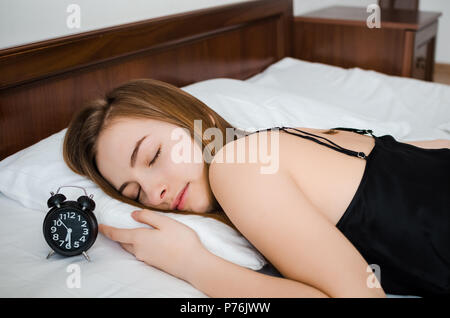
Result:
M250 0L0 0L0 49L145 19ZM81 26L66 25L69 4L81 8ZM362 6L377 0L294 0L299 15L330 5ZM420 0L441 11L436 61L450 64L450 1Z

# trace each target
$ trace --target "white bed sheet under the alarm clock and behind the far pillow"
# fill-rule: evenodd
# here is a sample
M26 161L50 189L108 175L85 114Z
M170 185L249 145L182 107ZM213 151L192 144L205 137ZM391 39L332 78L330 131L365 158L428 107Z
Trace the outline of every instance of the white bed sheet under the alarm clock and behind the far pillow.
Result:
M361 88L370 89L371 81L378 87L372 88L372 93ZM379 121L380 129L390 127L383 125L386 122L398 123L401 129L392 126L392 135L400 140L450 139L450 87L444 85L292 58L275 63L246 83L272 87L290 96L317 99L318 107L325 104L336 109L345 107L360 115L355 124L364 124L364 118L370 123ZM290 111L300 121L302 113ZM25 208L0 193L0 297L207 297L187 282L137 261L101 234L89 250L90 263L82 256L54 255L47 260L49 248L41 230L45 213ZM71 264L80 266L81 288L68 288L66 284L73 274L67 272Z

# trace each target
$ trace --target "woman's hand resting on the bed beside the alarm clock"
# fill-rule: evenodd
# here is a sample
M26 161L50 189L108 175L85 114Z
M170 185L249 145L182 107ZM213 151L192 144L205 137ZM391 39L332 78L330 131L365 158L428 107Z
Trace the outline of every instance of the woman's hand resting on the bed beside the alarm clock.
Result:
M197 233L181 222L147 209L133 212L132 217L154 229L120 229L101 224L99 230L136 259L187 280L197 253L206 250Z

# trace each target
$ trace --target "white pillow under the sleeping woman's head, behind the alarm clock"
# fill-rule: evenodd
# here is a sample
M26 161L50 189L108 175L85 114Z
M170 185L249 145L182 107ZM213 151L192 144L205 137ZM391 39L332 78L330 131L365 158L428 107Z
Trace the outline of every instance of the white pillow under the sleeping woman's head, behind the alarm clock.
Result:
M0 192L25 207L46 213L50 191L56 192L63 185L82 186L88 195L94 195L94 213L99 223L123 228L146 226L131 217L131 212L139 208L111 198L92 181L67 167L62 157L66 131L67 128L2 160ZM63 188L60 192L68 200L76 200L84 193L77 188ZM191 227L209 251L230 262L253 270L259 270L267 263L245 237L222 222L197 215L156 213Z

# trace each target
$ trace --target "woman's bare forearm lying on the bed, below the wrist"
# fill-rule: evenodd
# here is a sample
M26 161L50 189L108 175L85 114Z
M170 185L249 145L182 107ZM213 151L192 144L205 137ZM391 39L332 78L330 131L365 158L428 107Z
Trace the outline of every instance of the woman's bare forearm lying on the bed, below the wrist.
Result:
M187 281L214 298L315 298L320 290L286 278L269 276L231 263L207 249L196 255Z

